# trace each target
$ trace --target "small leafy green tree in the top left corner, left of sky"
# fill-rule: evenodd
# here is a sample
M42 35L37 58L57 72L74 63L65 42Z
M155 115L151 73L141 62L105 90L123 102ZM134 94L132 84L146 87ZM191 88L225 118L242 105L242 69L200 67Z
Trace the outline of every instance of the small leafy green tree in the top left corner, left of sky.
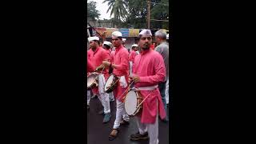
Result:
M99 14L99 11L96 10L96 2L87 2L87 19L96 20L96 18L98 19L100 15L101 14Z

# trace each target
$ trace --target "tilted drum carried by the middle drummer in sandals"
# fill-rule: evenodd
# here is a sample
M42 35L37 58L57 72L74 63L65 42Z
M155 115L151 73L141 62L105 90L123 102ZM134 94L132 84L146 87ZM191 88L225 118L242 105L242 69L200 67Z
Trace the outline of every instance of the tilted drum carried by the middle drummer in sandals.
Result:
M108 94L111 93L116 88L116 86L118 86L118 81L119 78L114 74L111 74L110 77L106 80L104 91Z

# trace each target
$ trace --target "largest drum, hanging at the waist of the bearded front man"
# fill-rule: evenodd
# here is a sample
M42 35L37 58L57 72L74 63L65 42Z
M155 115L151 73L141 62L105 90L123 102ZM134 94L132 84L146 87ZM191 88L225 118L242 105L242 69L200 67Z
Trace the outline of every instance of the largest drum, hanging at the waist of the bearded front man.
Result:
M138 91L129 90L125 99L125 110L129 116L135 116L142 110L142 105L138 106L142 102L143 98Z

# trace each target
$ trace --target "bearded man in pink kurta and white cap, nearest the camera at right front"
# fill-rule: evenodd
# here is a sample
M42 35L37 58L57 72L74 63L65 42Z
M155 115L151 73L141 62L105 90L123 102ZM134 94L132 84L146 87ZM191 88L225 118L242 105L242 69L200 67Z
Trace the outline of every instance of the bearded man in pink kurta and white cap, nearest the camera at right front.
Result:
M131 140L146 139L150 137L150 144L158 144L158 114L160 118L166 117L162 103L158 82L163 82L166 68L161 54L150 49L152 42L150 30L142 30L139 34L138 45L141 53L134 59L134 76L130 81L135 82L142 98L142 114L138 115L138 133L131 134Z

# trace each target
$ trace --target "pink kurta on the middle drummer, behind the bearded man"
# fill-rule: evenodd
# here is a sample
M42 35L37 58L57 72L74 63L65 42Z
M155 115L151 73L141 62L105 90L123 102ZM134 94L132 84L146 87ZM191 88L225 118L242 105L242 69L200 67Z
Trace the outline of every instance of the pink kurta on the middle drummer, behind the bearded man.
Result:
M114 57L113 57L113 63L116 65L116 68L113 70L113 74L115 74L118 77L125 76L126 82L128 84L128 77L129 77L129 53L123 46L119 46L115 49ZM127 89L122 88L120 86L120 82L118 82L117 88L114 89L114 97L118 100L123 102L123 97L126 94L123 94L123 92Z

